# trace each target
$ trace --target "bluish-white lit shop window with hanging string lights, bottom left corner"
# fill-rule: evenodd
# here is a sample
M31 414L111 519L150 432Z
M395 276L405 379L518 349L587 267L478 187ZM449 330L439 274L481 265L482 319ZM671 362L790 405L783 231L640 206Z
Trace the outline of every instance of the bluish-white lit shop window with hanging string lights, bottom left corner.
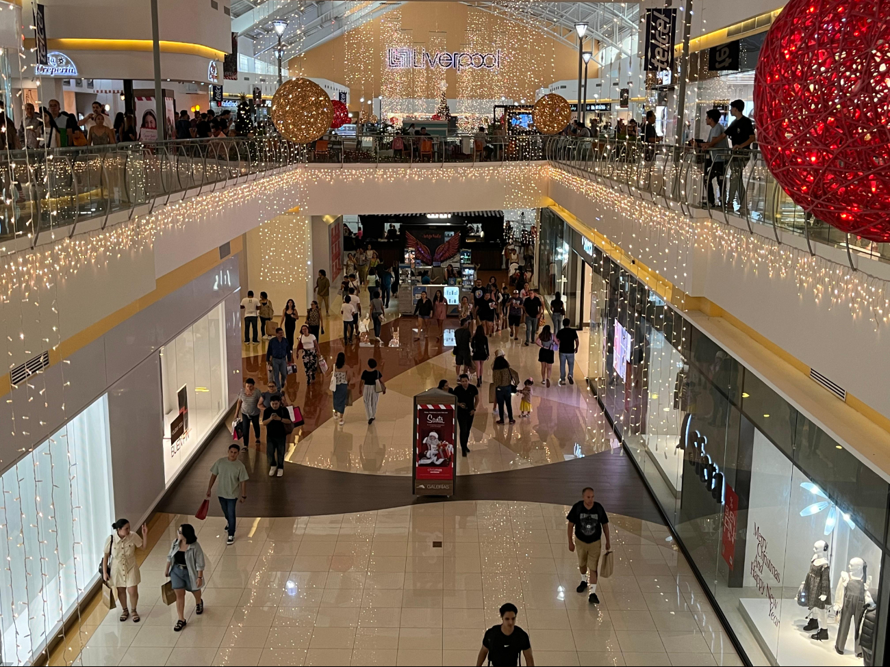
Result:
M0 492L0 662L30 664L99 576L114 520L107 397L6 470Z

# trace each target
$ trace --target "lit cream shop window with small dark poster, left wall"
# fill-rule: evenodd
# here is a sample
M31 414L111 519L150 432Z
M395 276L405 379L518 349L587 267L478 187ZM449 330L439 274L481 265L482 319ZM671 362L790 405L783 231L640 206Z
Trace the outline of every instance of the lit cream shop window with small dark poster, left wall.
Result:
M164 407L164 475L176 473L229 407L224 304L160 349Z

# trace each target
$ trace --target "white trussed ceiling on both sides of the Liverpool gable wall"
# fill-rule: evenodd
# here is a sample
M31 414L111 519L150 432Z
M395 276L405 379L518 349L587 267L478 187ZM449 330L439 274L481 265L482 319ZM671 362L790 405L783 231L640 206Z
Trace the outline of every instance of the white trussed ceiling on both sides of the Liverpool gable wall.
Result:
M232 31L254 41L255 57L271 61L278 44L273 21L287 20L281 36L283 57L287 59L358 28L401 4L361 0L233 0ZM601 49L611 46L624 56L631 55L627 51L627 37L639 29L639 5L635 2L500 0L464 4L508 20L537 24L542 33L572 48L578 44L575 23L585 21L587 36L594 37Z

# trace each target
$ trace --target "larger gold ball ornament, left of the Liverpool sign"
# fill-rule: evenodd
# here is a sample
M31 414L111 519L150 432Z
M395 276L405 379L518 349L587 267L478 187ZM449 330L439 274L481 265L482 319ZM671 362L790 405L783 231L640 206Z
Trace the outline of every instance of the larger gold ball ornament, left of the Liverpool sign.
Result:
M272 96L272 122L290 141L315 141L328 132L333 119L328 93L309 79L288 79Z

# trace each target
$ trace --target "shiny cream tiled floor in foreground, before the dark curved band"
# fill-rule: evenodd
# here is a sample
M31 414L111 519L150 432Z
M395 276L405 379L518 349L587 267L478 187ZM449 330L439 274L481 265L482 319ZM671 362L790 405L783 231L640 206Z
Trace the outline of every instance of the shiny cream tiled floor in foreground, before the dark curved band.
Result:
M615 572L578 594L561 505L450 502L312 518L170 517L142 565L142 623L118 610L75 664L473 664L506 601L537 664L741 664L664 526L611 516ZM168 539L206 551L203 615L158 599ZM433 547L433 541L442 546Z

